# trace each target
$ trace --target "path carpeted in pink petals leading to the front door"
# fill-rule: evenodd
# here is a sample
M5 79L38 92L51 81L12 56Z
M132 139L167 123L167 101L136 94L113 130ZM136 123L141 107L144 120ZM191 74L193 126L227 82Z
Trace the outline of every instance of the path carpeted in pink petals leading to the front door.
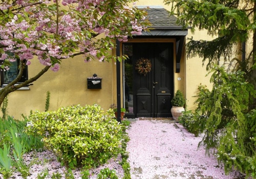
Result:
M127 129L132 179L244 178L234 171L225 175L214 156L198 149L200 137L171 120L136 120Z

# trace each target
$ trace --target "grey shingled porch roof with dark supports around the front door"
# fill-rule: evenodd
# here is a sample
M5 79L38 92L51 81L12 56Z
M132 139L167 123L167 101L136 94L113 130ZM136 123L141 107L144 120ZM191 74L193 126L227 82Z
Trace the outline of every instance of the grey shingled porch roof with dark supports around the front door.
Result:
M146 6L138 6L139 9ZM150 31L143 31L141 35L135 35L133 38L175 38L176 39L176 73L180 73L180 61L185 43L185 36L189 28L183 28L176 24L177 17L171 16L162 6L151 6L146 8L147 19L152 26ZM116 41L116 55L120 56L120 42ZM120 62L116 61L117 73L117 121L121 122L121 81L120 81Z

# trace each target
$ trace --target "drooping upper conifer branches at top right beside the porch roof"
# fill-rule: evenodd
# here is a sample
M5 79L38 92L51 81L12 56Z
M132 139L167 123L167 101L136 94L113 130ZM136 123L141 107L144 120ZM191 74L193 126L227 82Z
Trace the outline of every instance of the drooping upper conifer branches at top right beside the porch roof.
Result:
M207 69L212 68L221 55L227 58L232 44L246 41L248 33L254 29L253 20L250 21L248 16L253 9L252 1L243 1L245 6L240 8L237 0L164 0L164 2L172 5L171 13L177 15L179 25L191 27L193 33L198 28L207 30L208 35L219 35L209 41L191 38L186 44L187 56L199 55L203 58L203 62L207 59Z

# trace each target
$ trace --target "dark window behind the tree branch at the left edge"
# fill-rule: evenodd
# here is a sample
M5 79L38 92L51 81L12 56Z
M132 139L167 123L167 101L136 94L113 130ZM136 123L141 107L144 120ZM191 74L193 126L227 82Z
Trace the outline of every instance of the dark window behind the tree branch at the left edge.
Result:
M10 67L9 70L6 70L6 71L1 70L1 87L13 81L19 73L19 59L10 63L11 65L9 66ZM28 66L26 65L23 71L22 79L20 79L18 83L24 82L27 79L28 79Z

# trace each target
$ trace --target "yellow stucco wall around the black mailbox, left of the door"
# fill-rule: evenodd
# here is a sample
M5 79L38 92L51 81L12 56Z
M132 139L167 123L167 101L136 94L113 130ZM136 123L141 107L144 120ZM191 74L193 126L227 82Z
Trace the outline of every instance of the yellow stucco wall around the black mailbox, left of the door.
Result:
M38 60L32 60L28 69L29 77L37 74L41 68ZM49 70L33 82L30 90L18 90L9 94L9 115L19 118L20 114L29 115L31 109L45 110L47 91L51 93L49 110L94 103L108 109L115 99L113 69L116 69L114 62L84 62L82 56L63 60L58 72ZM88 89L87 78L95 73L102 78L102 88Z

